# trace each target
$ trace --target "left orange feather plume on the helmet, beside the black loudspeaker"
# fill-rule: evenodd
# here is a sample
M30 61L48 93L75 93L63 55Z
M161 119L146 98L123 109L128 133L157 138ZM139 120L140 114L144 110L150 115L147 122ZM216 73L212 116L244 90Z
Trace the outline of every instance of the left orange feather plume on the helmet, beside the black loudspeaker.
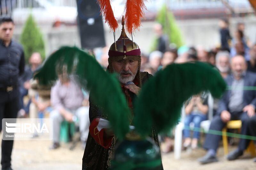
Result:
M116 31L118 23L111 8L110 0L98 0L98 4L100 5L100 11L104 16L105 23L108 23L111 30Z

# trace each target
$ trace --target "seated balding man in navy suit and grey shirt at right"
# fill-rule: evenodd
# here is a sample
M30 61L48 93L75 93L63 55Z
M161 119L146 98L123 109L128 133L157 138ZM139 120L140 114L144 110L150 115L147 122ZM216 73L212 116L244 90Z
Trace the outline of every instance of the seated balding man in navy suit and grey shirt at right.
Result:
M247 66L242 55L236 55L231 59L232 74L226 78L226 83L231 87L227 90L219 102L217 115L214 116L210 129L221 131L230 120L241 120L241 134L247 134L247 126L250 117L255 115L256 92L246 90L244 86L255 86L256 75L246 72ZM221 136L207 134L204 148L207 154L199 159L202 164L216 162L216 152ZM248 145L249 140L240 139L238 149L228 155L228 160L236 159L241 156Z

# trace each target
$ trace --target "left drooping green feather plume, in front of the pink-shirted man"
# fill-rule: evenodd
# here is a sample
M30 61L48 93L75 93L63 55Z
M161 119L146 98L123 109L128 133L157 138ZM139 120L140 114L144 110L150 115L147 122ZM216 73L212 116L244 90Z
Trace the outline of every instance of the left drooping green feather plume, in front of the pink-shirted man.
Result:
M116 75L104 71L89 54L76 47L62 47L45 61L36 73L41 84L53 84L57 79L57 69L66 67L69 75L74 75L80 85L90 91L90 97L108 116L115 135L122 139L129 131L130 113L120 83Z

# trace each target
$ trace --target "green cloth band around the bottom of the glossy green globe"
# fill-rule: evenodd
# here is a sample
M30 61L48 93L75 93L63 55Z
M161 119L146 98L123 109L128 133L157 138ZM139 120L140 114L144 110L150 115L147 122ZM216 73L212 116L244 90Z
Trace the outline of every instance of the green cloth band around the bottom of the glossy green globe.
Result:
M137 163L134 164L133 161L127 161L127 162L117 162L115 160L112 160L112 168L113 170L132 170L135 168L154 168L157 166L160 166L162 163L161 159L156 159L150 162L143 162L143 163Z

